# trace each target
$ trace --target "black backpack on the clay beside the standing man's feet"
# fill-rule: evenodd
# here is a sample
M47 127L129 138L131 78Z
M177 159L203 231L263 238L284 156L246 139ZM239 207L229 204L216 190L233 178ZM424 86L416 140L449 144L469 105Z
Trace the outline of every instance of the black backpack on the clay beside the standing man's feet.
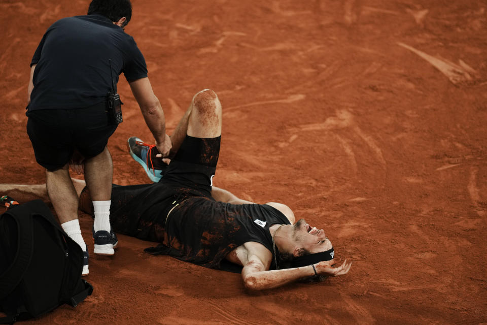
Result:
M41 200L0 215L0 323L76 307L93 291L82 270L81 247Z

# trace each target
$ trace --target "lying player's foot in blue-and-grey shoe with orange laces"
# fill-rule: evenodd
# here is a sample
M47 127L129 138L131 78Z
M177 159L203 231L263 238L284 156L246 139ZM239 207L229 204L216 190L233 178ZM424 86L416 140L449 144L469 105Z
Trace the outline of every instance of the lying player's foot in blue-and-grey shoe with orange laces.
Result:
M162 178L167 165L161 158L156 157L159 153L156 146L147 144L137 137L131 137L127 140L127 147L132 158L141 164L147 176L157 183Z

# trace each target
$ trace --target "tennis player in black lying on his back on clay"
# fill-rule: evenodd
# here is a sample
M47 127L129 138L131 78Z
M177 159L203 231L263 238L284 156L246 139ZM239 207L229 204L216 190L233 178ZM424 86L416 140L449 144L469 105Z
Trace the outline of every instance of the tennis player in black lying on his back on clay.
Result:
M245 286L268 289L302 278L349 272L346 259L334 265L334 251L323 230L300 219L284 204L254 204L212 186L221 139L222 108L212 90L193 100L171 136L169 158L155 146L130 138L130 154L153 184L113 185L110 221L115 232L159 242L147 248L181 261L227 271L241 270ZM167 165L168 164L168 165ZM25 186L25 185L24 185ZM43 185L23 188L45 197ZM92 213L83 181L75 181L80 209ZM2 193L22 185L0 187ZM18 193L18 192L17 192ZM243 267L243 268L242 268Z

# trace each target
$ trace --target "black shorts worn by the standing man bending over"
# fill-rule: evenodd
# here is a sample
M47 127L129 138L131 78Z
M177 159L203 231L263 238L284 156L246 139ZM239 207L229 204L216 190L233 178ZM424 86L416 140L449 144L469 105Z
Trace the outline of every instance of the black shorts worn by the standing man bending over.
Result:
M39 165L55 171L66 165L75 150L85 158L101 153L117 125L109 125L100 105L80 109L27 112L27 134Z

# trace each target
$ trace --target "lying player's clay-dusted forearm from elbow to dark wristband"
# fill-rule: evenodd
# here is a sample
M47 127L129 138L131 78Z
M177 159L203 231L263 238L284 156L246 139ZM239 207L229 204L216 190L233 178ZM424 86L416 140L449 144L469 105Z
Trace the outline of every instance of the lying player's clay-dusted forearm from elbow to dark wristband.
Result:
M251 290L271 289L313 275L315 275L315 271L310 265L292 269L251 271L249 273L242 270L245 286Z

